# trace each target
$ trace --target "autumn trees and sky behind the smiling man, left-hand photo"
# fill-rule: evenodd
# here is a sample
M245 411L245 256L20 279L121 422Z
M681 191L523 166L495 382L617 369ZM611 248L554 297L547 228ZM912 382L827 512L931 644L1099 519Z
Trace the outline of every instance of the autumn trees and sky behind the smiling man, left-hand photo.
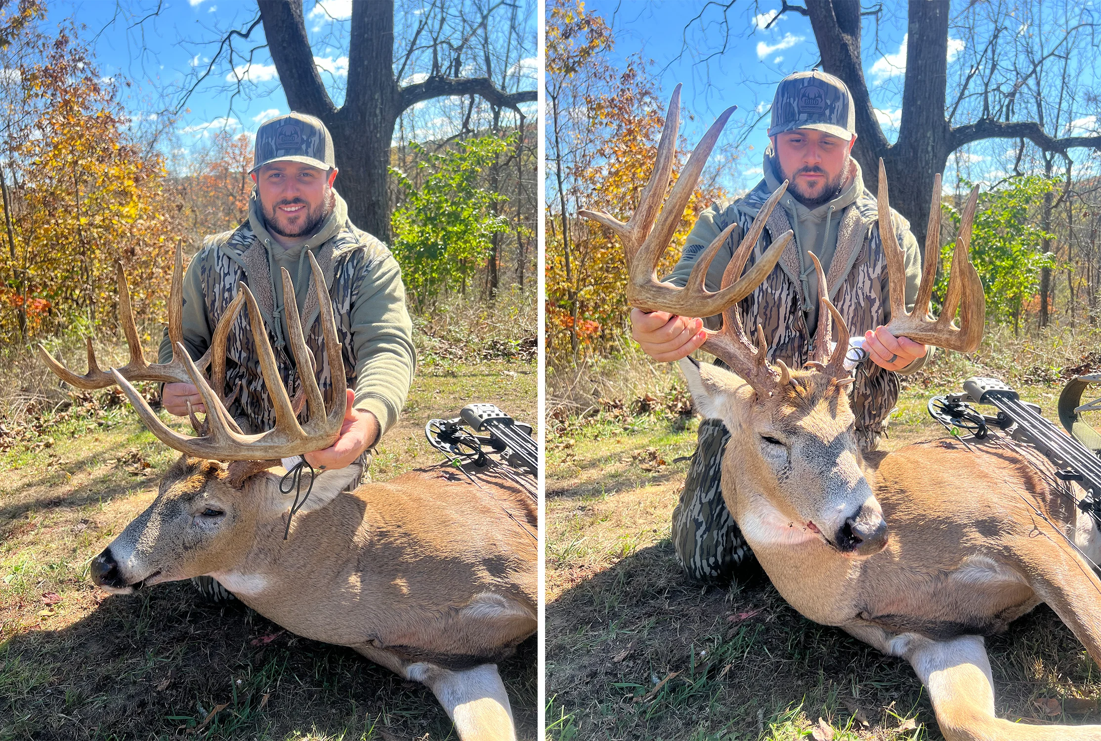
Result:
M130 9L137 17L131 24L111 32L135 33L161 8L151 4L142 19L140 4ZM391 244L411 309L423 324L444 317L447 325L450 314L471 319L459 322L469 334L486 310L520 312L527 319L513 344L530 353L537 252L534 6L405 4L368 3L352 13L351 3L313 10L301 2L260 3L249 23L209 32L210 57L190 78L167 85L100 72L94 40L106 29L84 28L40 0L0 2L4 366L33 363L30 348L37 342L63 355L87 335L113 342L116 261L129 276L146 340L160 336L176 246L183 246L186 262L204 236L239 225L252 188L251 133L210 126L196 140L187 134L197 127L179 120L204 85L216 83L230 109L235 100L257 95L255 69L264 65L250 65L268 48L275 57L268 77L280 74L290 108L317 115L333 129L341 170L337 190L349 201L352 221L364 229L374 224L369 230ZM380 7L389 13L389 48L371 41L364 26L385 24ZM323 81L325 69L314 64L297 75L299 59L274 50L284 57L296 51L292 42L296 30L304 42L307 12L312 19L340 10L342 34L315 41L342 43L336 54L346 76ZM382 57L390 64L380 77L373 70ZM357 74L367 68L372 72ZM124 101L134 90L160 113L128 110ZM436 100L447 105L426 108ZM379 124L385 148L368 151L364 137L348 140L345 120L379 101L393 117L389 129ZM380 203L364 196L364 178L372 193L381 190ZM47 405L48 385L9 385L0 394L8 400L7 415Z

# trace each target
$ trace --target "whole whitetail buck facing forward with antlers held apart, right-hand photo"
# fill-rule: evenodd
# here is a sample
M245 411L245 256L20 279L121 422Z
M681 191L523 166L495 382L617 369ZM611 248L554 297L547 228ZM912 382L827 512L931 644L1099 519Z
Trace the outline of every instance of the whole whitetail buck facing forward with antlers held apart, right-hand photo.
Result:
M1076 508L1014 453L975 454L956 443L933 440L861 455L846 391L852 383L843 368L849 334L827 298L820 265L821 310L810 362L798 370L767 362L760 327L754 346L737 304L773 269L788 237L777 239L745 276L734 279L780 193L741 241L723 274L722 291L708 292L704 277L730 229L700 257L685 288L658 283L657 261L729 116L720 117L693 151L654 227L669 183L678 111L679 87L669 105L654 174L630 221L592 211L581 215L622 239L632 305L684 316L722 313L722 329L709 333L704 349L733 372L690 358L682 360L680 368L696 408L722 419L730 431L722 461L723 500L777 591L808 619L842 628L908 661L928 688L949 741L1101 739L1101 726L1027 726L999 719L983 644L984 635L1047 602L1101 664L1101 581L1067 540L1077 538L1078 547L1097 562L1097 526L1092 521L1077 523ZM940 233L937 178L924 277L914 310L907 314L903 254L890 226L887 182L880 165L879 222L892 309L887 328L895 336L962 351L978 347L983 294L968 260L977 199L975 190L962 215L944 310L931 322L927 312ZM957 306L961 327L952 325ZM831 317L838 328L836 349L829 342Z

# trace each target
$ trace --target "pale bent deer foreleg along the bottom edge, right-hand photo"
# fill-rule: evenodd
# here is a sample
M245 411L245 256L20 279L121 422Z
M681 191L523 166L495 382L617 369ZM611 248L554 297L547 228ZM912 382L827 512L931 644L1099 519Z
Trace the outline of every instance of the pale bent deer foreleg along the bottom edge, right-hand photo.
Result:
M1098 741L1101 726L1027 726L994 715L994 685L979 635L949 641L904 635L904 657L929 691L947 741ZM903 647L903 646L898 646Z

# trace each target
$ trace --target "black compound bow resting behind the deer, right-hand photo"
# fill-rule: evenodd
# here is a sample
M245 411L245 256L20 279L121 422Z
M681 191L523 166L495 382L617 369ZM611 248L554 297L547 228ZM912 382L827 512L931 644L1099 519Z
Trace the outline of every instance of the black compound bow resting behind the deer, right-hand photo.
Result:
M1088 512L1101 526L1101 435L1083 418L1088 412L1101 412L1101 399L1081 403L1082 393L1091 383L1101 383L1101 373L1079 375L1064 388L1059 395L1059 421L1065 434L1040 416L1040 407L1021 401L1021 394L1002 381L992 378L970 378L963 382L963 393L934 396L928 410L934 419L942 424L967 444L959 431L975 440L991 437L999 429L1011 444L1035 448L1055 467L1055 479L1067 486L1076 482L1086 495L1078 508ZM996 414L982 414L972 404L986 404ZM1047 475L1047 471L1042 471Z

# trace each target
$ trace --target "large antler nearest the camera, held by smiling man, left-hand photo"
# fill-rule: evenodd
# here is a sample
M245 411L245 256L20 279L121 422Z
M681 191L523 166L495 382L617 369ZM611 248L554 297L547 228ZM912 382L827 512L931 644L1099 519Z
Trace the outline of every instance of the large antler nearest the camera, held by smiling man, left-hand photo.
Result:
M309 407L309 418L303 425L298 424L293 403L280 379L275 353L268 341L268 330L264 328L263 317L260 315L257 301L248 286L238 284L238 291L244 295L244 302L249 307L249 320L252 325L252 336L260 357L260 370L275 408L275 427L257 435L244 435L236 429L236 425L221 400L207 384L196 363L192 362L183 344L177 344L176 347L187 368L189 382L198 388L203 403L207 408L206 425L208 432L200 437L189 437L170 429L149 407L145 399L138 393L122 372L111 369L115 381L126 392L138 415L162 443L181 453L209 460L269 460L327 448L340 436L347 401L347 381L344 373L341 346L337 339L333 304L326 299L328 290L325 287L325 277L312 252L309 253L309 264L314 272L314 286L317 290L317 295L321 298L319 302L320 322L325 335L325 351L333 375L333 408L326 412L325 397L317 385L314 373L310 372L313 368L310 353L303 338L298 308L294 301L288 301L286 303L286 324L291 352L299 369L306 404ZM283 295L294 296L294 284L291 282L291 275L285 269L282 269L281 272Z

